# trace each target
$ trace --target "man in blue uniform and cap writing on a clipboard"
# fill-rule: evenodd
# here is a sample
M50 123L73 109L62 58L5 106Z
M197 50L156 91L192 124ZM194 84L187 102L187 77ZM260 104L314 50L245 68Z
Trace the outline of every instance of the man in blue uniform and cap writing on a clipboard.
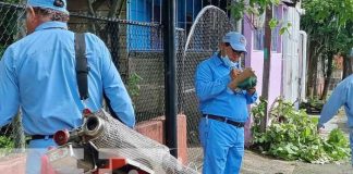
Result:
M204 149L204 174L236 174L244 156L244 124L247 104L257 99L255 88L238 85L254 76L241 70L238 61L246 53L246 39L235 32L226 34L220 52L203 61L195 75L196 95L203 119L199 138Z

